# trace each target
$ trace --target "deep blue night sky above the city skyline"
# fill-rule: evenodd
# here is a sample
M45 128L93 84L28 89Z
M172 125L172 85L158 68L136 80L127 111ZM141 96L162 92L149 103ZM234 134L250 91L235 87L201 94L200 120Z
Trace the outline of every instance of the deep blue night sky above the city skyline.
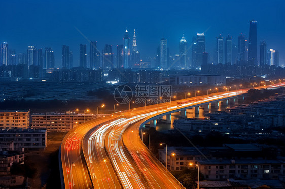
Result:
M1 1L0 41L8 41L9 49L16 49L16 53L26 52L28 45L51 46L55 65L60 67L63 44L73 51L74 66L79 65L79 44L87 44L89 53L88 41L75 28L97 41L99 50L112 44L114 54L116 45L123 44L126 28L131 40L135 29L142 57L155 56L162 36L174 55L183 33L191 43L197 32L205 32L206 51L212 56L216 36L230 34L237 44L240 33L248 37L249 23L254 19L258 22L258 52L260 40L266 39L268 49L280 51L280 65L284 65L284 9L283 0L7 0Z

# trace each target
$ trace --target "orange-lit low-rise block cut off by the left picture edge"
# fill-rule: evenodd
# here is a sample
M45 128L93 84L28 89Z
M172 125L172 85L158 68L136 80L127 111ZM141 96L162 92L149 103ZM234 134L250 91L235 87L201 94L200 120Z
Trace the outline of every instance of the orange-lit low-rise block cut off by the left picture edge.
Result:
M29 110L0 110L0 128L28 128L30 124Z

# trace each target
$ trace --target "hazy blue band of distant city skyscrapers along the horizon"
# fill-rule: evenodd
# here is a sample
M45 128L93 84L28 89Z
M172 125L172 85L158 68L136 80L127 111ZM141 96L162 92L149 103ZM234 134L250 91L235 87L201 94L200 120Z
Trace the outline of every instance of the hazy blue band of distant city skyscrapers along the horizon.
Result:
M87 48L89 50L87 50ZM89 45L79 45L79 67L75 66L73 51L68 45L62 46L61 68L55 67L54 52L51 47L45 49L28 46L26 53L18 53L8 47L8 42L1 44L0 78L20 80L26 78L43 78L54 81L102 81L108 70L116 69L193 69L202 74L247 76L247 75L282 75L279 68L279 51L267 48L265 40L257 41L257 21L250 21L248 38L243 34L237 42L228 35L219 35L216 49L212 54L206 52L205 33L197 33L191 45L184 35L179 41L178 53L171 55L166 38L160 40L156 55L142 61L138 51L136 32L132 42L128 30L125 31L123 44L117 45L116 55L113 46L106 44L102 51L96 41ZM258 58L258 49L260 56ZM189 53L191 52L191 53ZM191 56L190 56L191 55ZM153 72L155 72L155 70ZM54 73L53 73L54 72ZM50 73L53 73L51 77Z

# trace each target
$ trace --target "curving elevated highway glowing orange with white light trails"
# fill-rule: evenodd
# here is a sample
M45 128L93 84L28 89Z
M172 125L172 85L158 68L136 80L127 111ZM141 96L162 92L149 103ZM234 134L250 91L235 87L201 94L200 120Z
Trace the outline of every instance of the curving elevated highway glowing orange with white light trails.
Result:
M263 86L284 86L285 83ZM139 128L155 116L243 95L221 92L117 112L70 130L61 144L63 188L183 188L147 149ZM178 104L177 102L185 102Z

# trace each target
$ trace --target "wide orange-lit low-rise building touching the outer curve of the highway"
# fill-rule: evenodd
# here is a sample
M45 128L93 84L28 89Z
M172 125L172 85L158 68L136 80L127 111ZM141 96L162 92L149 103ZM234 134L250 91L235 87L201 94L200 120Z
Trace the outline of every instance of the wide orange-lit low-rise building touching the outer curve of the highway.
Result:
M85 121L94 119L94 114L66 113L34 113L31 116L32 129L47 129L47 131L67 132Z

